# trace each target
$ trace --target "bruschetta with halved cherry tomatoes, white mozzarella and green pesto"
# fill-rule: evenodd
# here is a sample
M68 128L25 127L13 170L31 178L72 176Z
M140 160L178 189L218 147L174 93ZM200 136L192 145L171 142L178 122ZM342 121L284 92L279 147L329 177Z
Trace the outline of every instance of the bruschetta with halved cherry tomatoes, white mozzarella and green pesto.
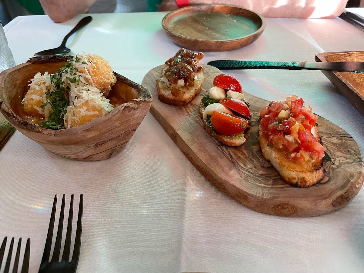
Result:
M239 146L245 143L251 113L238 80L228 74L215 77L214 87L202 97L200 116L209 135L222 144Z

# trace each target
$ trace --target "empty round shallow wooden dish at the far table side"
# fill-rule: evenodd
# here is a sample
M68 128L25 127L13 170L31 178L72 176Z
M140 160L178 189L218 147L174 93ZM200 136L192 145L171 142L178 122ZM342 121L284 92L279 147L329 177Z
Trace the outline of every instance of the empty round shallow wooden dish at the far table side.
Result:
M173 43L196 51L228 51L253 43L265 29L259 13L231 5L193 5L168 13L162 27Z

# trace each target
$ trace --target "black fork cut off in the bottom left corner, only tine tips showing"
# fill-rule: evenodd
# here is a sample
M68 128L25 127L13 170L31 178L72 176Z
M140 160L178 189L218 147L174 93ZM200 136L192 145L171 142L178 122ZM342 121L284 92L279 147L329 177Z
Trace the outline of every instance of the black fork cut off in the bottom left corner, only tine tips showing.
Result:
M3 240L3 243L0 246L0 269L1 269L1 264L2 264L3 258L4 258L5 246L6 246L7 240L8 240L8 237L5 237L4 240ZM11 238L11 242L10 242L10 246L9 246L9 253L8 253L8 257L7 257L6 262L5 262L5 267L4 267L4 272L3 273L8 273L9 272L11 256L12 256L12 252L13 252L13 246L14 246L14 237ZM16 249L14 266L13 266L13 271L12 271L13 273L18 272L20 247L21 247L21 238L19 238L18 246L17 246L17 249ZM21 266L21 273L28 273L29 256L30 256L30 238L28 238L27 244L25 245L25 252L24 252L23 266Z

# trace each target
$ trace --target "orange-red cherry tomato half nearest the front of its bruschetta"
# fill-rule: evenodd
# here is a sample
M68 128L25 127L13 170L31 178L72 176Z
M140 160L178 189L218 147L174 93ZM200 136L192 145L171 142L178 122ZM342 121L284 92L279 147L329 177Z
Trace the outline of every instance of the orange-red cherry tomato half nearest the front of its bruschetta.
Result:
M211 124L217 132L225 136L237 135L248 127L247 120L219 111L212 113Z

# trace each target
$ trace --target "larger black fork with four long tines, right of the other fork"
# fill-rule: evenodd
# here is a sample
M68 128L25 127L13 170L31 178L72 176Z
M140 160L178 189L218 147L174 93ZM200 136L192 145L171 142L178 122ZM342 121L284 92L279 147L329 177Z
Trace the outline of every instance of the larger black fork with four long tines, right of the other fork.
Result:
M61 212L59 215L59 223L57 230L57 237L54 246L54 251L52 255L52 260L50 259L53 228L56 214L57 206L57 194L54 196L51 220L49 222L48 234L46 245L44 246L43 258L40 264L39 273L75 273L77 269L78 259L80 256L81 248L81 232L82 232L82 194L80 195L80 205L78 207L78 219L75 237L75 246L73 249L72 259L70 260L70 250L71 250L71 233L72 233L72 215L73 215L73 194L71 195L70 212L68 213L68 224L66 240L64 242L64 249L61 261L59 261L60 251L61 251L61 241L62 241L62 229L63 229L63 216L64 216L64 202L66 195L63 194Z

